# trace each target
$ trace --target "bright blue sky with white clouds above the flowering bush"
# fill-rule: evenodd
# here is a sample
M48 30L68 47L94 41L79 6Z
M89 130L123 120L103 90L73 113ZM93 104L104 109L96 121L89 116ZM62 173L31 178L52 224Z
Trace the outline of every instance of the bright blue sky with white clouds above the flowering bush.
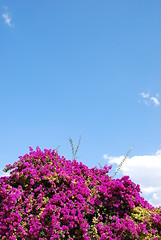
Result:
M61 145L72 159L69 137L76 146L81 134L78 161L113 163L113 174L134 145L118 176L161 205L160 9L159 0L1 0L0 169L29 146Z

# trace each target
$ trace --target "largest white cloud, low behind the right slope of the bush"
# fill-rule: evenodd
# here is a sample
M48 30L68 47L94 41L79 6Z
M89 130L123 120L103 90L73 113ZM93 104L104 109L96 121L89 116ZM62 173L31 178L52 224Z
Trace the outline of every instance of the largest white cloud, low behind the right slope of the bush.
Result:
M108 163L119 165L124 156L108 157L104 154L104 159ZM139 184L143 196L153 206L161 206L161 150L154 155L134 156L127 158L122 165L120 172L128 175L136 184Z

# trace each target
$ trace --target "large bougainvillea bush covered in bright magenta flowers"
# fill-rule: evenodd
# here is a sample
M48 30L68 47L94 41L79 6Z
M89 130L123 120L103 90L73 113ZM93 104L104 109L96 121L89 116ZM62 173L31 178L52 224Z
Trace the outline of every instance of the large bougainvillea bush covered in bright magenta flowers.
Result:
M0 239L161 239L161 208L110 169L30 148L0 178Z

